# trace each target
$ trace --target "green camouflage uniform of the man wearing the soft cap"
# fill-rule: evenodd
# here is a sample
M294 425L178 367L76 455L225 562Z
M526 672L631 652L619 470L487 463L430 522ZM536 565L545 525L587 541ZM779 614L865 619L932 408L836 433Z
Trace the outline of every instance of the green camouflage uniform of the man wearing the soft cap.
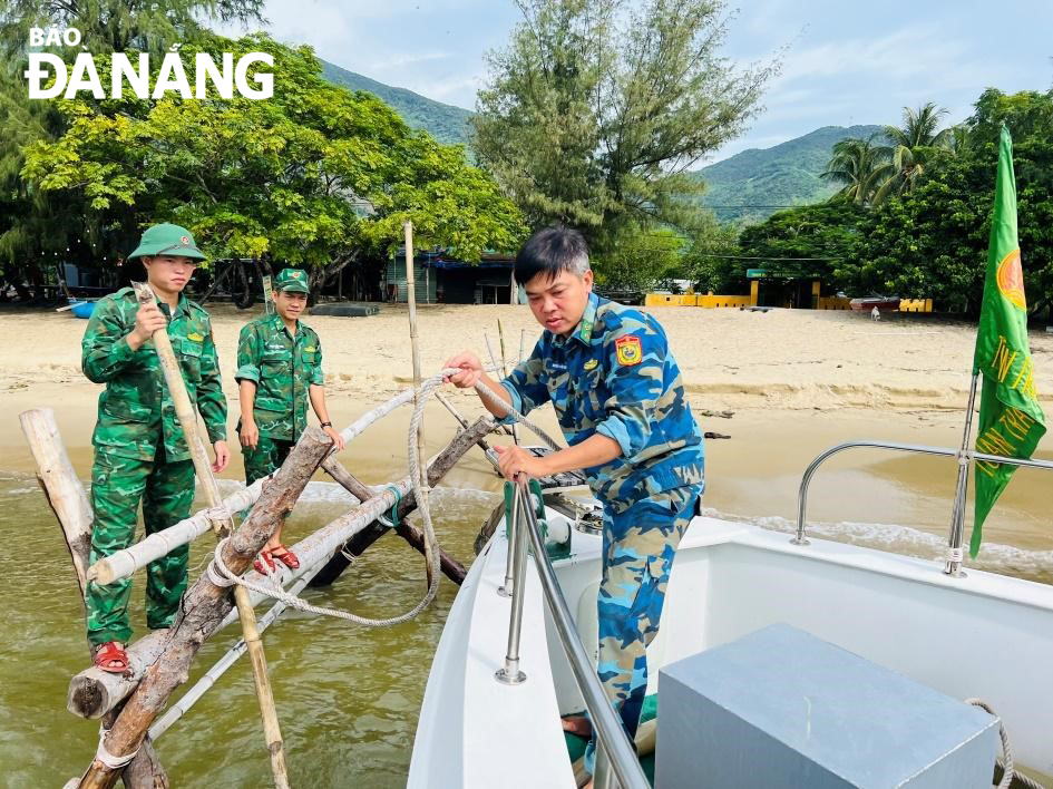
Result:
M255 449L242 446L252 485L281 467L308 426L308 390L324 383L318 334L303 321L293 337L281 315L257 318L242 329L234 378L256 384L252 412L260 440ZM238 434L241 428L238 421Z

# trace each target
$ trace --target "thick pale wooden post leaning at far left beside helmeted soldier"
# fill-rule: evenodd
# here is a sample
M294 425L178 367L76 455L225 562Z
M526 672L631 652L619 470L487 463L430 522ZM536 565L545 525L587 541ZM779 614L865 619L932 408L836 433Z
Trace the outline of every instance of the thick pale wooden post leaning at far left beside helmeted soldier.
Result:
M37 461L37 481L40 483L51 512L62 528L74 574L77 576L80 603L84 605L87 586L85 568L91 551L91 505L59 436L55 411L50 408L35 408L19 415L19 421ZM125 786L128 789L167 787L168 776L154 752L154 746L148 739L143 744L135 759L124 768L121 776Z

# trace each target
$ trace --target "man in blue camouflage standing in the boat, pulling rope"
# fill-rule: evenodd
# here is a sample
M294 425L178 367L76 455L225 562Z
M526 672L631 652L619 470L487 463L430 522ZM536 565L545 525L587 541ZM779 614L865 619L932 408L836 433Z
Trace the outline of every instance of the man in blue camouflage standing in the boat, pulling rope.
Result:
M524 245L516 281L545 327L530 358L497 384L479 359L446 367L459 387L482 380L528 413L552 401L568 448L535 458L498 447L500 468L545 477L584 470L604 507L598 673L635 737L647 686L646 647L659 631L673 556L704 487L702 434L684 396L665 332L651 315L592 292L585 242L549 227ZM505 409L484 399L495 416ZM593 768L594 746L586 754Z

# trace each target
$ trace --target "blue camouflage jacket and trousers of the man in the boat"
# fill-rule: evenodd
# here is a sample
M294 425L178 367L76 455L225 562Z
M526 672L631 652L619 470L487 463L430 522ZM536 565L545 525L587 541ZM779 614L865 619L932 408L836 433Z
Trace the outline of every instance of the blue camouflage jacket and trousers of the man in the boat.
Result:
M569 446L599 434L622 448L585 475L604 507L597 670L632 739L647 688L646 647L704 487L702 432L680 368L654 318L591 293L577 329L567 338L546 330L501 384L524 415L550 400Z

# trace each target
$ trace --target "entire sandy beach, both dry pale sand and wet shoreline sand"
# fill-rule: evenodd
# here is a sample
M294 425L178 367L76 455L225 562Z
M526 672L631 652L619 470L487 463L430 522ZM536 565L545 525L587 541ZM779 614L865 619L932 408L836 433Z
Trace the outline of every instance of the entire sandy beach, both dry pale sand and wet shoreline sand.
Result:
M212 305L214 332L230 405L231 442L237 399L233 372L241 327L261 308ZM850 312L656 308L683 371L692 408L703 428L730 437L706 446L706 504L744 517L792 518L800 475L827 447L859 438L955 446L961 441L975 328L928 315L872 321ZM539 327L526 306L423 306L419 310L421 364L436 371L456 351L485 358L488 335L499 353L498 321L509 361L520 335L529 353ZM384 305L370 318L308 318L320 334L330 410L347 426L411 381L408 310ZM33 407L56 410L62 438L81 478L89 476L91 430L101 387L80 372L86 322L66 313L0 312L0 469L33 469L17 416ZM1053 415L1053 334L1031 332L1036 383ZM481 412L474 394L448 388L466 416ZM369 483L404 474L408 408L371 428L342 459ZM552 409L535 415L558 436ZM455 423L432 402L427 411L428 449L437 451ZM1039 457L1053 457L1053 430ZM883 520L934 534L945 529L953 493L953 464L944 459L847 454L817 478L813 515L844 520ZM866 480L859 477L865 469ZM241 455L224 477L244 478ZM854 476L857 475L857 476ZM988 534L1011 545L1053 548L1049 475L1022 471L989 522ZM320 477L321 478L321 477ZM878 484L875 484L877 480ZM466 456L445 480L455 487L498 488L480 452ZM909 491L906 495L904 491Z

